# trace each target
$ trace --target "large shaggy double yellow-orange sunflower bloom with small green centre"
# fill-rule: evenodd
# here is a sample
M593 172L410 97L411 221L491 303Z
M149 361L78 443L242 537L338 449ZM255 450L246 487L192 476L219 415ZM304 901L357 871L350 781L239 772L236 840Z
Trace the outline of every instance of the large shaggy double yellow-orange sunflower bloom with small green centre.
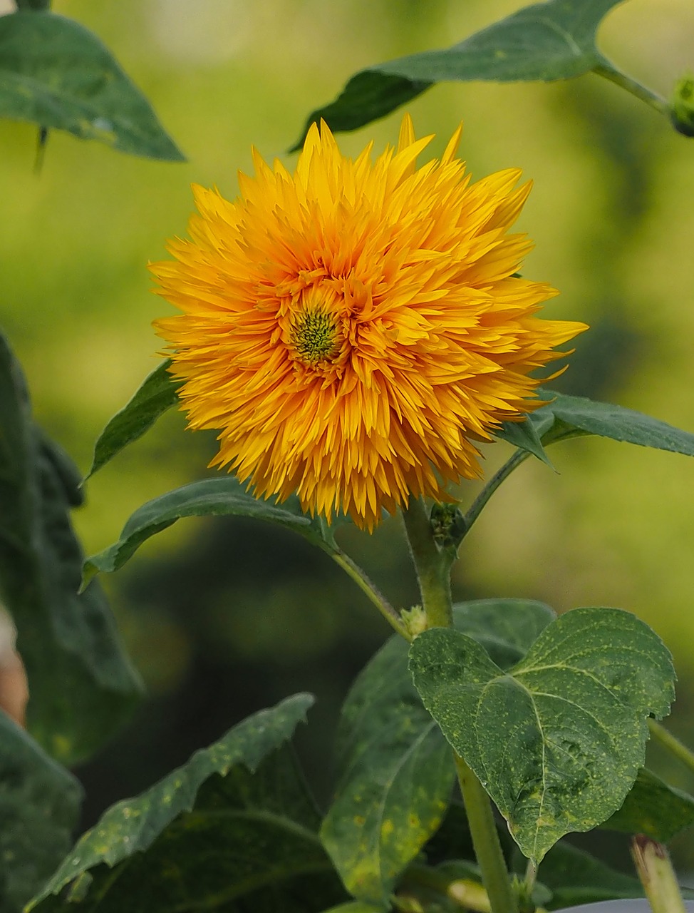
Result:
M193 187L191 239L151 265L182 313L155 327L190 426L220 431L212 465L256 495L368 530L410 495L447 499L481 475L473 442L539 404L528 374L585 330L534 316L557 292L513 276L530 184L471 184L460 137L417 168L433 137L409 116L376 161L371 144L345 158L322 123L293 174L254 152L234 202Z

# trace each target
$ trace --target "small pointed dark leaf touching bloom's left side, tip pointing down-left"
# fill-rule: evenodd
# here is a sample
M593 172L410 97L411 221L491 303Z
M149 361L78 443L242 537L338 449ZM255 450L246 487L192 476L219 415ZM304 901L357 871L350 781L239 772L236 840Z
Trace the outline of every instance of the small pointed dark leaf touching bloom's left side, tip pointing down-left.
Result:
M123 447L149 431L160 415L178 403L178 391L182 382L171 377L167 370L170 365L169 358L148 374L129 403L106 425L94 446L94 458L85 481L113 459Z

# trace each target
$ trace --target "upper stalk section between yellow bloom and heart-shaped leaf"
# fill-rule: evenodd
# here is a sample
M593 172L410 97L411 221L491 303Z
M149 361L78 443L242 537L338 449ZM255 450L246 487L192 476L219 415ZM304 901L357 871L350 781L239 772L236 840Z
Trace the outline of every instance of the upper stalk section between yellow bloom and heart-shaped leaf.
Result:
M440 549L434 541L429 513L422 498L410 498L402 516L420 582L427 627L452 627L451 553Z

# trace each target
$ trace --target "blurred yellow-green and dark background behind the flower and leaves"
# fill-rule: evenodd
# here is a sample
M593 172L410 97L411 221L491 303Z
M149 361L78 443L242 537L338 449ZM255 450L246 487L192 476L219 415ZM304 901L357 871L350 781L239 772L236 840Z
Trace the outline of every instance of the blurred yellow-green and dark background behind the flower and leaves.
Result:
M9 5L5 0L5 6ZM190 184L231 197L251 144L285 150L310 110L357 69L444 47L518 9L514 0L55 0L88 26L150 98L188 157L140 160L53 133L34 172L36 130L0 123L0 323L23 362L38 420L86 471L110 415L157 364L146 264L182 234ZM690 0L629 0L600 31L606 56L663 95L694 68ZM523 273L562 290L548 316L585 320L566 392L694 430L694 141L595 76L552 84L445 84L409 106L440 153L459 121L473 176L520 166L534 181L521 227ZM339 137L357 153L397 139L400 113ZM166 415L88 485L75 517L87 552L130 512L209 472L213 436ZM487 450L489 472L509 455ZM672 649L678 701L668 725L694 741L694 461L585 439L527 462L465 543L458 598L544 600L558 611L616 605ZM477 487L461 488L468 502ZM342 544L400 605L416 601L396 521ZM85 823L137 792L247 713L297 690L317 695L300 750L330 789L337 708L388 628L337 566L302 540L250 521L184 521L105 581L149 697L80 771ZM677 767L658 770L689 789ZM694 867L689 835L676 847Z

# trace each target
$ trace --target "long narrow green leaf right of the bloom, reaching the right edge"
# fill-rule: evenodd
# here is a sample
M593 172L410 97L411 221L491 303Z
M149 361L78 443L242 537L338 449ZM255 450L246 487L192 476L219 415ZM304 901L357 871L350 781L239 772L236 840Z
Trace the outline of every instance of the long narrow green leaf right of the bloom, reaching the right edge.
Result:
M613 441L694 456L694 435L649 415L620 405L596 403L583 396L557 394L552 390L539 390L538 394L544 399L554 400L530 416L545 446L570 437L597 435Z

